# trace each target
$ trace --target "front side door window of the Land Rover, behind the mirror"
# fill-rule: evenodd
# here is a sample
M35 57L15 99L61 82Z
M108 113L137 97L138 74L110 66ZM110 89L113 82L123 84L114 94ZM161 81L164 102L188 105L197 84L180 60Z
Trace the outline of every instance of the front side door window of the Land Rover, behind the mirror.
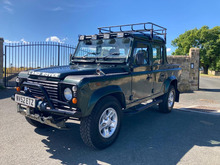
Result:
M149 47L148 47L148 45L143 44L143 43L138 43L137 47L134 49L133 57L134 57L134 64L135 65L149 64Z

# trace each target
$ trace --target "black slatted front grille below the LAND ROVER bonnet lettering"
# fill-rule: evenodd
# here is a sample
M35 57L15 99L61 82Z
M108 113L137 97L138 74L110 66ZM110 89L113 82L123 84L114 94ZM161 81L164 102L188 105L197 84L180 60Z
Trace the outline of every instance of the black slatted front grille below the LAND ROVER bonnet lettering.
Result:
M58 82L55 81L45 81L45 80L35 80L35 79L27 79L28 83L39 84L42 85L47 91L49 97L51 99L58 100ZM37 97L44 97L41 90L38 87L30 86L30 92Z

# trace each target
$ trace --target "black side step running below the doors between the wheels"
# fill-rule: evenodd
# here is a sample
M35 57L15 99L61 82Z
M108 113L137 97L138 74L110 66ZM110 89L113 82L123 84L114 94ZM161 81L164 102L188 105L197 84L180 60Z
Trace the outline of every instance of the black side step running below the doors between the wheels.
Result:
M123 112L124 112L124 114L129 114L129 115L130 114L137 114L137 113L140 113L140 112L142 112L142 111L144 111L144 110L146 110L146 109L148 109L148 108L150 108L150 107L152 107L154 105L162 103L162 102L163 102L163 100L156 100L156 101L153 101L153 102L148 103L146 105L141 105L140 104L140 106L138 106L138 108L137 108L137 106L136 107L132 107L132 108L129 108L129 109L123 111Z

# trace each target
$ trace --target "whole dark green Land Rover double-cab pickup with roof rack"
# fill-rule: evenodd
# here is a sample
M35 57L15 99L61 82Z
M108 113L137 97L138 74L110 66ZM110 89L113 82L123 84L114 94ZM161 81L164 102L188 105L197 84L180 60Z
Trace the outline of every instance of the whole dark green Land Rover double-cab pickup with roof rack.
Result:
M80 121L85 144L96 149L117 138L123 113L153 105L168 113L179 101L180 67L168 64L166 29L153 23L98 28L81 35L68 66L21 72L12 99L33 126L66 129Z

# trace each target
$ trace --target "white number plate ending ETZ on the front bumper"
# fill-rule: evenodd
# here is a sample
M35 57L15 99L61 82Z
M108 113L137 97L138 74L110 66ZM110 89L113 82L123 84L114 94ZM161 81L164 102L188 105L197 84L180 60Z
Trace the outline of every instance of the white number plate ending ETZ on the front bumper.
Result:
M15 94L15 102L35 108L36 100L31 97Z

